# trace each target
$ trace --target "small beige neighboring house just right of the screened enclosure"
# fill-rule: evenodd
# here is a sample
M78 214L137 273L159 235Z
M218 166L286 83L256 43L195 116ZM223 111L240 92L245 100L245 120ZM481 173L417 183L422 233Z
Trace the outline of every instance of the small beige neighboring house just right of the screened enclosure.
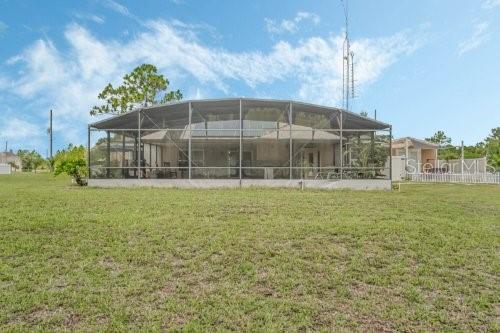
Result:
M439 145L412 137L392 141L392 156L403 158L410 173L435 172L438 168Z

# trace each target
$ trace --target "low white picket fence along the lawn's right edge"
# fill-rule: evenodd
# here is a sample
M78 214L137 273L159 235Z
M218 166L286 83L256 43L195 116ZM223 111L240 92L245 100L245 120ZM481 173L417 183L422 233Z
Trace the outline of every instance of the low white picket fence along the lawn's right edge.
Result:
M413 182L500 184L500 173L409 173L407 176Z

